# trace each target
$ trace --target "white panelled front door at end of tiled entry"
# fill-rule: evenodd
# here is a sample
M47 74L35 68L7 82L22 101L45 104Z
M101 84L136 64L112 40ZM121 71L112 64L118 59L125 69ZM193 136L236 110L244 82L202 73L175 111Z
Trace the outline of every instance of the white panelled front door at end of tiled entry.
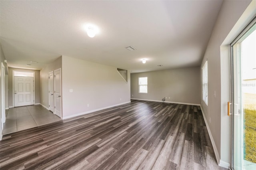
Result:
M14 107L34 105L34 78L14 77Z

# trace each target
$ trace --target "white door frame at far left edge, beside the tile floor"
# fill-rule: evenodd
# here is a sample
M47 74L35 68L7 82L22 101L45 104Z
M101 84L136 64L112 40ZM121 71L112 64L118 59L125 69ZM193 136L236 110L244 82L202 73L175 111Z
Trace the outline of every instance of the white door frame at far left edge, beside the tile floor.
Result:
M5 117L5 89L4 89L4 86L5 86L5 67L4 67L4 64L1 63L1 92L2 92L2 97L1 97L1 105L2 105L2 110L1 110L1 119L2 119L2 129L4 129L4 123L5 123L5 120L6 120L6 117Z

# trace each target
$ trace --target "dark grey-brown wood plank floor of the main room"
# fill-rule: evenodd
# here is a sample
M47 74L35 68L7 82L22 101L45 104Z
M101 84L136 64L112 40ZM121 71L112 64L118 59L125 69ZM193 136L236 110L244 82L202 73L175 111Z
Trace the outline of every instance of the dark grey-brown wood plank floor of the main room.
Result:
M0 169L224 168L217 165L200 107L134 100L5 135Z

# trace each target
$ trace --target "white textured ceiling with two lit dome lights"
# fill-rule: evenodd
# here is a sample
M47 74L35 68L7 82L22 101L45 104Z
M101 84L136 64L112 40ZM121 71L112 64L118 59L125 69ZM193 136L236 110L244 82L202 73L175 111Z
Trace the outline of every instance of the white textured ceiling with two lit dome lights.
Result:
M10 67L28 69L42 69L61 55L133 73L199 66L221 4L1 0L1 46ZM83 29L87 23L100 29L94 38ZM128 51L129 45L137 50Z

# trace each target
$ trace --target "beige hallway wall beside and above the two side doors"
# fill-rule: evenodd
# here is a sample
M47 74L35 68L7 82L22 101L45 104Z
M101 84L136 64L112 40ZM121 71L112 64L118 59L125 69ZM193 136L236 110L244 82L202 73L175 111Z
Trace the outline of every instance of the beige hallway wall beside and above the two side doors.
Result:
M62 57L59 57L40 70L40 104L44 105L46 108L49 106L49 72L59 68L62 68Z

